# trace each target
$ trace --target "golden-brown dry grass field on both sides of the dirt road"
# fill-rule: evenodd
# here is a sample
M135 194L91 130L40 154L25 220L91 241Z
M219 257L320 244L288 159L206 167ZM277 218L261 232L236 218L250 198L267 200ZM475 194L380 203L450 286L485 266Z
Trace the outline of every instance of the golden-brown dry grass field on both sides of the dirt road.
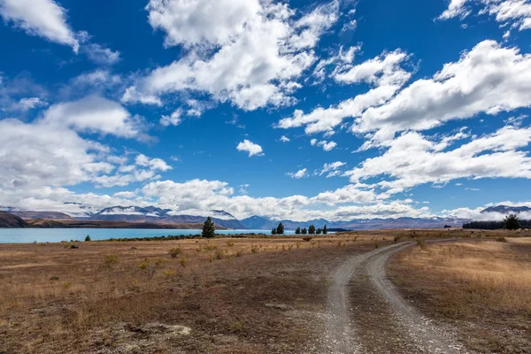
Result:
M507 236L387 230L310 242L78 242L77 250L67 243L0 244L0 352L311 352L330 274L345 259L393 242L463 236L458 244L397 254L390 265L396 284L435 318L476 321L479 328L491 323L486 313L502 313L496 323L528 335L531 243L484 241L500 235Z

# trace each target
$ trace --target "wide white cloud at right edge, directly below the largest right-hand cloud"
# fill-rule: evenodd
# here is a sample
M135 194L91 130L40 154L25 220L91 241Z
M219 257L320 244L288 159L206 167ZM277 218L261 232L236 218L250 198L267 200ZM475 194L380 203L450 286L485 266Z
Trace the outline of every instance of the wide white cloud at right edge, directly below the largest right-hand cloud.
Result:
M461 178L531 179L531 158L521 150L531 142L531 128L503 127L453 150L443 141L404 133L388 142L381 156L367 158L345 174L352 182L385 177L373 185L384 190L382 197L425 183L443 187Z

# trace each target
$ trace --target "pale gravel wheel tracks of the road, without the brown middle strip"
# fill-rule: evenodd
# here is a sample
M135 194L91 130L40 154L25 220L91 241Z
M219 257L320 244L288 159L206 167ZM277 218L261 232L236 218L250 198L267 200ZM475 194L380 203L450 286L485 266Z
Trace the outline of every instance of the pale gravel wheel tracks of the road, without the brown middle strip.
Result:
M362 354L366 351L364 343L357 335L356 324L351 320L352 301L355 299L350 299L349 291L350 278L361 267L366 267L370 282L389 304L396 322L406 328L407 334L403 339L412 341L414 352L436 354L467 352L454 340L449 331L436 327L431 320L422 316L412 305L408 304L389 281L385 273L385 264L389 257L412 244L412 242L398 243L358 254L349 258L337 269L333 275L334 283L328 292L327 332L323 338L322 352ZM389 350L392 349L389 348Z

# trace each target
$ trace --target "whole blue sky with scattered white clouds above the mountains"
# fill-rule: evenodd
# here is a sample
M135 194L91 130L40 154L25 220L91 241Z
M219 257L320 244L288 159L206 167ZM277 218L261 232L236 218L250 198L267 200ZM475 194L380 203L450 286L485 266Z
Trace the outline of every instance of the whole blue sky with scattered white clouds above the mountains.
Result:
M531 206L531 1L0 0L0 205Z

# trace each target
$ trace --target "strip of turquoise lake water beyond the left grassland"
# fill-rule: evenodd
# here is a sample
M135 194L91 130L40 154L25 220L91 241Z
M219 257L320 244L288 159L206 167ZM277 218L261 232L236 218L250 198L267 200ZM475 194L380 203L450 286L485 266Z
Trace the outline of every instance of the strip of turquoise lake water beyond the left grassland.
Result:
M201 230L172 228L0 228L0 243L83 241L90 235L92 241L110 238L155 237L167 235L199 235ZM217 235L266 234L271 230L216 230ZM286 231L286 235L294 235Z

